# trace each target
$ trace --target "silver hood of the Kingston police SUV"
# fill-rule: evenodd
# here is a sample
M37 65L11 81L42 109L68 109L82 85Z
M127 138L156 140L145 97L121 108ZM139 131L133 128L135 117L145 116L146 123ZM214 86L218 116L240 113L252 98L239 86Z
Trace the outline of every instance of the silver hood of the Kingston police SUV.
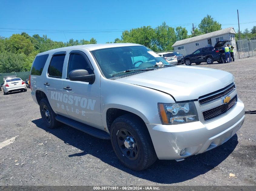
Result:
M225 88L234 81L234 77L211 68L171 66L116 80L156 89L171 94L176 101L185 101Z

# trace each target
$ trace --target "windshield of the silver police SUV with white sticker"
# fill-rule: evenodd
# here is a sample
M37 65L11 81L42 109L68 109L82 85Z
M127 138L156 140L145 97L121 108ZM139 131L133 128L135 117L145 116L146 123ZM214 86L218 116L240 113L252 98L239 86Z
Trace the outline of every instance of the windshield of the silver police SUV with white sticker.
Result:
M134 73L149 67L158 68L159 65L171 65L145 46L98 49L92 51L92 54L106 78L113 78L117 73L123 71ZM123 72L117 76L127 74L127 72Z

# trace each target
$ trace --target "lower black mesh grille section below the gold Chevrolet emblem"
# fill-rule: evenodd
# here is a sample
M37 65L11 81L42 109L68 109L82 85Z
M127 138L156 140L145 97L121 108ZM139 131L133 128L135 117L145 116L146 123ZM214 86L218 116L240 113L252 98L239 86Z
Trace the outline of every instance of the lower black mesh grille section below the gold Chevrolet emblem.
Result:
M204 121L213 119L215 117L218 117L218 116L226 113L228 110L230 110L232 107L235 106L236 102L237 102L237 95L235 97L233 97L228 103L225 103L221 106L204 111L203 112Z

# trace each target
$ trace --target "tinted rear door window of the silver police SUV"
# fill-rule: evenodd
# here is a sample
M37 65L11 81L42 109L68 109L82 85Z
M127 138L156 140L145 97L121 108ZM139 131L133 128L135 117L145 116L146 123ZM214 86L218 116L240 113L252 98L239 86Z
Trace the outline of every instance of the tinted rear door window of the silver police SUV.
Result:
M52 56L52 60L50 62L48 68L48 76L53 78L62 78L62 69L63 63L66 54L55 54Z

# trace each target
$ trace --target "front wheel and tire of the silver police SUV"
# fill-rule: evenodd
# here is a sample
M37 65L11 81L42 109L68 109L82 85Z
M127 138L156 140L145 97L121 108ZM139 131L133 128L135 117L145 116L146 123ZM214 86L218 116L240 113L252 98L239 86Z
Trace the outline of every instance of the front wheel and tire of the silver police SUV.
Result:
M116 118L111 125L110 136L118 159L131 170L144 170L156 161L148 129L138 116L125 114Z

